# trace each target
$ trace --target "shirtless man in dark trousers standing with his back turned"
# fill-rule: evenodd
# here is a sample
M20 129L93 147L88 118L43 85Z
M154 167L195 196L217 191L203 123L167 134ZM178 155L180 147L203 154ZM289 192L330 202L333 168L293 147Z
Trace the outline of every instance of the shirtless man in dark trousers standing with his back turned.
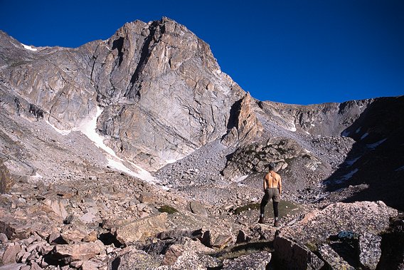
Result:
M282 181L280 179L280 175L274 172L274 167L272 163L268 165L268 173L264 177L264 192L265 195L262 197L261 205L260 205L260 220L258 223L264 223L264 211L265 205L272 199L272 204L274 207L274 217L275 222L274 226L279 227L278 222L278 203L280 202L280 194L282 194Z

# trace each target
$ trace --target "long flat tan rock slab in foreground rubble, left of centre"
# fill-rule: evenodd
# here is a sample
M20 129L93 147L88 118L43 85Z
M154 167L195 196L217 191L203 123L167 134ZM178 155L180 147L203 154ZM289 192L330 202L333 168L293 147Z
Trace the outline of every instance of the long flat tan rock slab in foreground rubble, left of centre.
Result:
M154 214L119 227L117 240L122 244L132 244L146 237L154 237L166 231L167 213Z

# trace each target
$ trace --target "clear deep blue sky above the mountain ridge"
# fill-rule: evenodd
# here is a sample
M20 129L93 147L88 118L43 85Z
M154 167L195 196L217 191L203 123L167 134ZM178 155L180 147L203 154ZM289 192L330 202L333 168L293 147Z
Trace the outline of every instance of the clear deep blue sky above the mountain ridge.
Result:
M0 0L0 29L34 46L77 47L161 16L209 43L222 70L259 100L404 95L402 0Z

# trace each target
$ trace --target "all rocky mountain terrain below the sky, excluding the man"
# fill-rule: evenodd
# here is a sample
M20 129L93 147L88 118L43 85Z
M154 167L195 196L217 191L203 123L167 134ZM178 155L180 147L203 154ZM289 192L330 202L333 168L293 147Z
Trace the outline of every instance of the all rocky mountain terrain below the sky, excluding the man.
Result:
M0 269L404 269L403 96L255 100L167 18L0 34Z

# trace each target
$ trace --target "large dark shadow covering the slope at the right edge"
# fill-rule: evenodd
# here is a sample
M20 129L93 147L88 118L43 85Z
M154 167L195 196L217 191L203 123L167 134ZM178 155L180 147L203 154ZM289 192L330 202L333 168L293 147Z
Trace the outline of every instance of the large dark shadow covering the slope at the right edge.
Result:
M368 185L344 202L378 201L404 210L404 96L378 98L343 134L356 140L344 163L328 179L327 191Z

